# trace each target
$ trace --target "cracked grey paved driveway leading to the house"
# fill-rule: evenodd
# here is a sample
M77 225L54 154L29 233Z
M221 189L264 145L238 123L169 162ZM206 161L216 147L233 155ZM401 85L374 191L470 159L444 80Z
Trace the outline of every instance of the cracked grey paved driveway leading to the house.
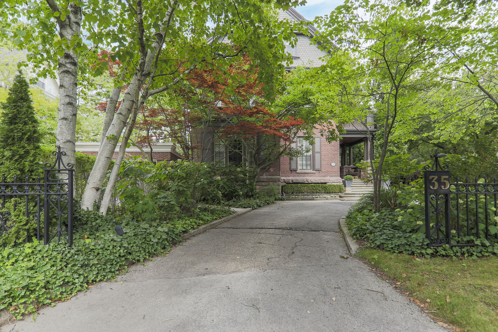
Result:
M257 209L41 310L36 323L0 331L446 331L361 261L341 258L348 255L338 220L350 205L286 201Z

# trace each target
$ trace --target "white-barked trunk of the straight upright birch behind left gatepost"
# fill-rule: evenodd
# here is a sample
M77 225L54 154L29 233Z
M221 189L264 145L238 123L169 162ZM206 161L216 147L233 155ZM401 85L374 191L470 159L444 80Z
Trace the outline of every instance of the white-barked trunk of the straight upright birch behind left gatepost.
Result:
M47 0L53 12L59 11L53 0ZM66 166L76 164L76 114L78 109L78 55L69 45L81 32L82 10L74 2L67 7L70 14L58 17L59 36L66 40L64 55L59 58L59 115L57 119L56 146L66 152Z

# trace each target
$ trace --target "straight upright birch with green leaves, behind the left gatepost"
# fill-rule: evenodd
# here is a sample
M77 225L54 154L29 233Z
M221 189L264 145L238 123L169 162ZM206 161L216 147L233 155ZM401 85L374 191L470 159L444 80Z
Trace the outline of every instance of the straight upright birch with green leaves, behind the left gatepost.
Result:
M76 162L76 114L78 106L79 53L86 49L81 38L82 2L44 0L0 3L0 37L13 39L19 49L27 49L28 61L40 75L59 78L59 115L56 145L66 152L64 161ZM25 23L29 17L35 24ZM16 21L18 19L18 21ZM8 25L5 22L15 24ZM13 26L13 27L12 27Z

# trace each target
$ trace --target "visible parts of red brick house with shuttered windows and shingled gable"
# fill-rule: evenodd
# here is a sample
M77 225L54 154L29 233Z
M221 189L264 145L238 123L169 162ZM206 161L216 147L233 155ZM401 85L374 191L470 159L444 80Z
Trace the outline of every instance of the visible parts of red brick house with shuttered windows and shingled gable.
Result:
M290 19L296 21L307 21L294 8L279 13L280 19ZM323 51L315 45L311 38L319 33L317 29L309 24L306 34L296 32L297 44L295 47L286 45L286 50L292 56L293 63L285 64L287 71L298 66L319 67L322 64L322 57L330 55L330 51ZM204 130L199 133L201 141L201 151L198 160L205 162L222 162L231 164L244 164L251 166L250 148L245 144L240 147L224 147L216 138L213 131L217 124L214 123L211 130ZM297 158L281 157L273 163L257 179L259 187L269 184L280 186L283 183L342 183L342 177L346 174L360 175L355 166L352 166L353 146L363 144L364 160L369 159L368 135L372 135L374 128L366 128L360 122L345 124L346 133L341 134L338 141L328 143L324 137L319 135L319 130L315 130L314 144L297 134L296 140L292 143L292 148L303 151Z

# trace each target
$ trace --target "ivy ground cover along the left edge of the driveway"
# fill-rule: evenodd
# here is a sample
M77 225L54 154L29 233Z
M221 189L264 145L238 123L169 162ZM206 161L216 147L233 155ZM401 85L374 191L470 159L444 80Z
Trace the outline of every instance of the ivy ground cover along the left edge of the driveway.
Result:
M64 244L32 243L0 248L0 310L15 318L38 307L63 301L88 285L111 279L128 264L166 253L181 235L232 214L226 207L199 209L189 218L164 221L120 221L93 211L75 211L75 241Z

